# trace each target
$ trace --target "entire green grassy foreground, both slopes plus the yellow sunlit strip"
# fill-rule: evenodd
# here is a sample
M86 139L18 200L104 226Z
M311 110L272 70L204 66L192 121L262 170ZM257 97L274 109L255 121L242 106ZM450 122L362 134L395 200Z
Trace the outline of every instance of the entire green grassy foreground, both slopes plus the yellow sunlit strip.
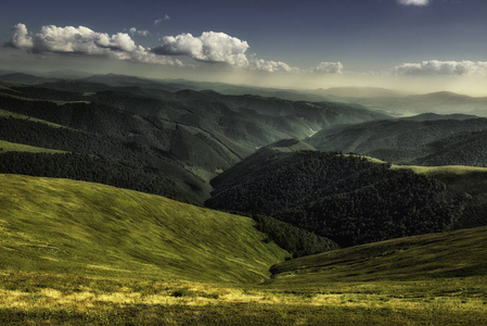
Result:
M486 227L284 262L246 217L67 179L0 185L0 324L487 324Z

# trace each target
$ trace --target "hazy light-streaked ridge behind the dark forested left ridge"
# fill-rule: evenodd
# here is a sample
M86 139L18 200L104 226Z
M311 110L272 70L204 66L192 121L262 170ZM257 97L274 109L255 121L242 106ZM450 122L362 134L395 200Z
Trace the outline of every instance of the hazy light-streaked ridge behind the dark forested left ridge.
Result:
M226 96L209 90L185 89L172 92L151 88L154 83L134 77L103 75L84 80L23 87L22 93L33 99L90 101L141 116L156 116L197 127L212 134L227 147L234 148L235 153L241 156L280 139L302 139L335 124L387 117L360 105Z

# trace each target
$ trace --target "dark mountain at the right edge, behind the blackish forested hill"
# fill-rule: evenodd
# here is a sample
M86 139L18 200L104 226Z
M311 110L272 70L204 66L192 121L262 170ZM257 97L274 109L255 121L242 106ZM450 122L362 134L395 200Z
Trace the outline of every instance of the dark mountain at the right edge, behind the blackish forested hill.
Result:
M461 146L461 139L469 137L470 133L476 135L483 130L487 130L486 118L463 114L421 114L336 126L321 130L306 141L319 150L355 152L401 164L484 166L487 161L483 159L482 137L472 140L470 152L463 150L465 155L447 154L453 153L454 148ZM473 160L474 156L478 160Z

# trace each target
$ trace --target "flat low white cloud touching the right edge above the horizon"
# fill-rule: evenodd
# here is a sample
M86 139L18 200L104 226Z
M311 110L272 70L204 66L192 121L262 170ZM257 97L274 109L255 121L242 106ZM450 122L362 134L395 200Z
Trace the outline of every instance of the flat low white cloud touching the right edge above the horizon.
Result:
M438 61L421 63L402 63L395 67L398 75L435 76L435 75L487 75L487 62L482 61Z

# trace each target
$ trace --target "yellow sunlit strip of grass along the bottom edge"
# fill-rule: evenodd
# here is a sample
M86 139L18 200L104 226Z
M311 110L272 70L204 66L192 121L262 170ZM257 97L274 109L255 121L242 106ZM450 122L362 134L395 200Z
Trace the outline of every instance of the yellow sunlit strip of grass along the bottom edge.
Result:
M485 298L360 293L361 283L332 292L221 286L184 280L140 281L48 273L4 273L0 322L167 325L483 325ZM377 286L377 285L375 285ZM416 285L419 286L419 285ZM430 285L423 285L423 287ZM434 286L434 285L432 285ZM3 319L2 319L3 318Z

